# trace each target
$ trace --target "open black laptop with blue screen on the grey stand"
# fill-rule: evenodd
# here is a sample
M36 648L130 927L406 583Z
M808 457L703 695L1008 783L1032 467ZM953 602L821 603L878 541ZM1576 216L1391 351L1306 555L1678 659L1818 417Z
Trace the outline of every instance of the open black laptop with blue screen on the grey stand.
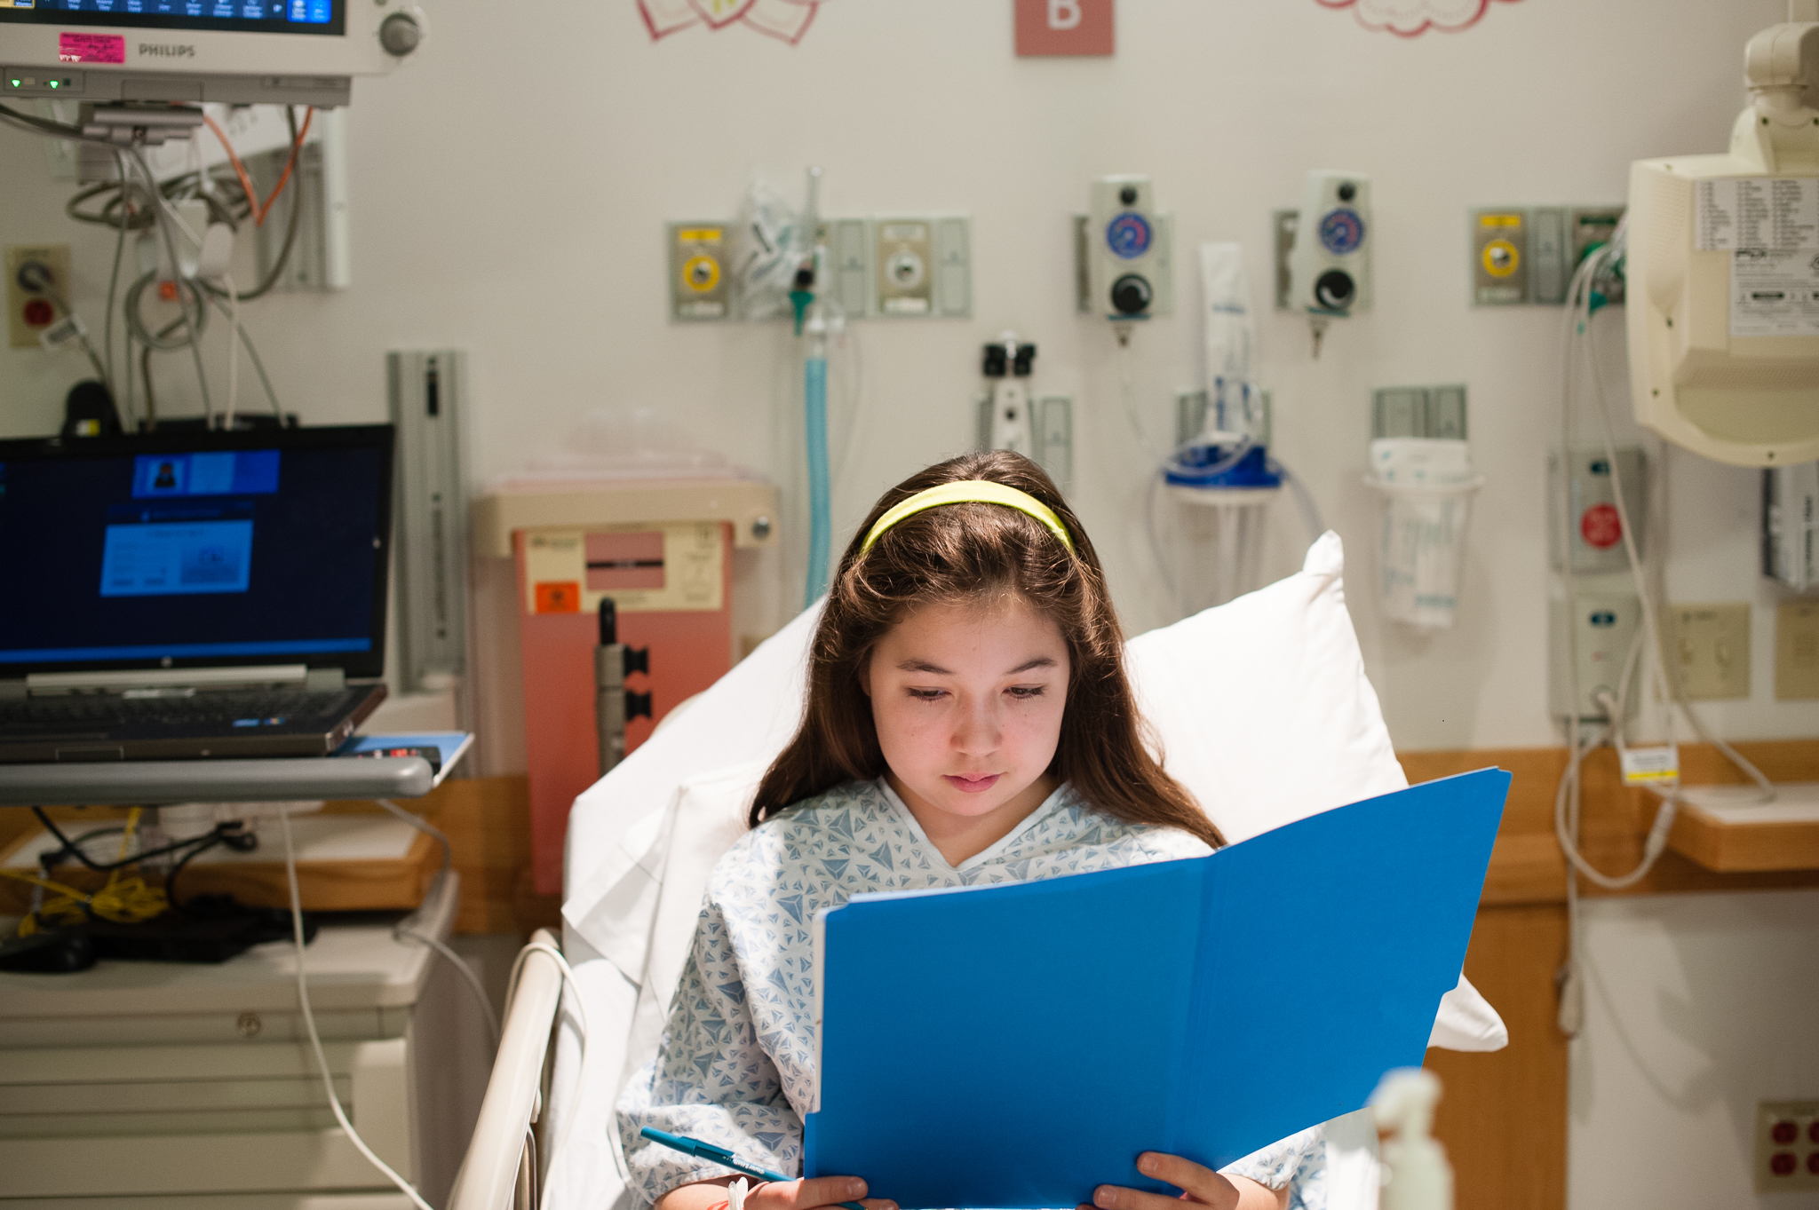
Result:
M391 425L0 441L0 761L327 756L384 701Z

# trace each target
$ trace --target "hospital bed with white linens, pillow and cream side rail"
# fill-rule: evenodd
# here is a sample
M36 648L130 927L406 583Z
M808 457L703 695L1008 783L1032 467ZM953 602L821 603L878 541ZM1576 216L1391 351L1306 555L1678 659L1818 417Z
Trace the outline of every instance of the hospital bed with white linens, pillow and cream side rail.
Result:
M1233 843L1408 785L1364 676L1342 563L1328 532L1301 572L1128 647L1166 769ZM613 1103L657 1050L708 872L744 832L751 792L795 730L815 620L809 610L779 630L575 801L562 937L538 932L520 956L449 1210L637 1210ZM1461 976L1430 1045L1506 1043ZM1328 1206L1373 1208L1368 1114L1326 1134Z

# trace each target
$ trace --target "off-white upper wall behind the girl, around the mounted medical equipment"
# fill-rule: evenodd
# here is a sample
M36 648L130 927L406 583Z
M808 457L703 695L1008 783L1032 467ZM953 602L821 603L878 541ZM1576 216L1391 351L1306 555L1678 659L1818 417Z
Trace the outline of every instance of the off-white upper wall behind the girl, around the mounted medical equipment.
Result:
M1170 618L1142 541L1146 461L1117 407L1111 336L1073 311L1068 216L1111 171L1150 173L1177 214L1179 316L1137 336L1161 440L1175 389L1201 376L1195 245L1242 240L1264 302L1270 211L1299 202L1310 167L1372 173L1375 312L1330 332L1319 362L1302 323L1266 316L1264 378L1277 452L1352 552L1353 616L1404 749L1555 741L1543 483L1559 312L1466 305L1466 211L1619 202L1630 160L1721 149L1741 47L1783 16L1781 0L1524 0L1468 33L1402 40L1313 0L1126 0L1115 58L1017 60L1008 0L829 0L793 49L744 29L653 45L633 0L429 7L417 62L355 89L353 289L251 309L287 405L311 423L382 418L384 352L453 345L471 352L477 480L555 449L602 403L660 407L735 460L780 465L789 342L771 325L668 323L662 223L729 214L755 167L795 189L815 162L828 213L957 209L975 242L971 322L862 325L868 429L839 518L971 440L979 345L1015 327L1042 349L1037 387L1082 411L1077 500L1133 630ZM111 245L62 216L69 187L38 164L31 136L0 129L0 242L71 240L96 314ZM160 367L167 402L189 391L195 407L184 362ZM47 431L78 372L0 354L0 432ZM1490 487L1459 625L1415 638L1370 600L1359 476L1370 391L1432 382L1470 383ZM1757 601L1755 696L1713 721L1739 738L1819 730L1812 703L1772 699L1755 474L1677 456L1673 476L1673 596ZM1279 512L1271 574L1299 556ZM793 596L748 585L742 600L775 614Z

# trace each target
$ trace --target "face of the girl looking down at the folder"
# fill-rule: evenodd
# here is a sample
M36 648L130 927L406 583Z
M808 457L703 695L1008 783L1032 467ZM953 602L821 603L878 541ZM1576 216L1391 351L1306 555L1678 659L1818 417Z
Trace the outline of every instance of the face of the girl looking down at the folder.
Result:
M1046 770L1060 741L1068 645L1020 598L911 612L873 647L860 685L891 788L942 852L942 836L995 830L975 852L1008 836L1055 790Z

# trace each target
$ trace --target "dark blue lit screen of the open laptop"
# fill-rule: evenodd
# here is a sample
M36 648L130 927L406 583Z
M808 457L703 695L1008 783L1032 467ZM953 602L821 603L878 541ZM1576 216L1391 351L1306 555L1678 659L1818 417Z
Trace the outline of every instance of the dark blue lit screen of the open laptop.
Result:
M0 674L380 676L391 427L0 441Z

